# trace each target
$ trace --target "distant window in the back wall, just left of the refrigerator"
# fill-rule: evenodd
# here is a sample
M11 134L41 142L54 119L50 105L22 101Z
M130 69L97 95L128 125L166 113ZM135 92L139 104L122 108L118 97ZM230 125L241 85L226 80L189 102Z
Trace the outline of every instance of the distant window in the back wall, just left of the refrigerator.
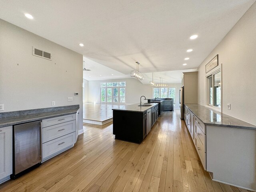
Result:
M153 88L153 97L156 98L173 98L173 104L176 105L176 88Z

